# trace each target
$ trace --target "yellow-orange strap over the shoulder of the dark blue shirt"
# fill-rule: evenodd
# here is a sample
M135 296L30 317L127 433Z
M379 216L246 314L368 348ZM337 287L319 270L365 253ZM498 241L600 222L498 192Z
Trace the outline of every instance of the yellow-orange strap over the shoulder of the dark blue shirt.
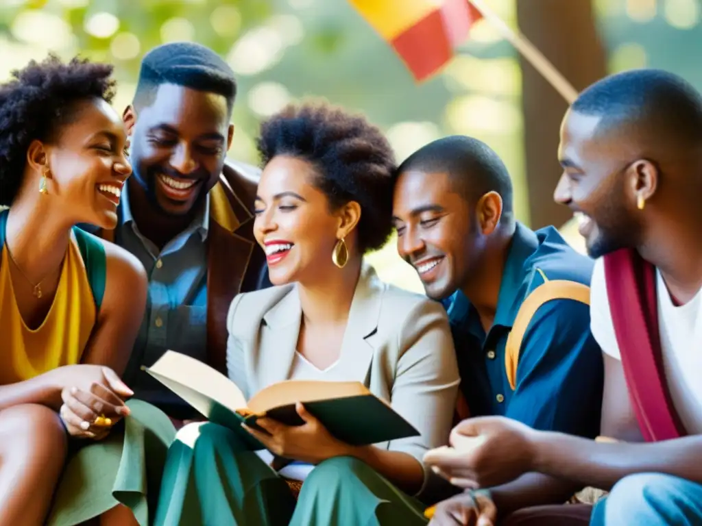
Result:
M552 299L573 299L586 305L590 304L590 287L588 285L564 279L550 281L541 269L536 270L543 277L543 283L532 290L522 306L519 307L515 323L512 324L512 330L505 345L505 371L512 391L517 388L517 365L519 364L522 339L524 339L531 318L534 317L538 308Z

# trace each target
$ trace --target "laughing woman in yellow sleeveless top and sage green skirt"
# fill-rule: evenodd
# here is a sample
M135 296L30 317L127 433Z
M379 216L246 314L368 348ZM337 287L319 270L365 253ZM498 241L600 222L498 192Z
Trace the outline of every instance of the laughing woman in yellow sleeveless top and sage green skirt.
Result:
M154 408L125 403L119 379L144 271L74 227L114 228L131 173L111 73L48 58L0 86L0 205L10 207L0 212L2 525L69 526L105 512L131 524L121 501L145 524L145 492L159 480L143 480L141 453L165 452L175 434Z

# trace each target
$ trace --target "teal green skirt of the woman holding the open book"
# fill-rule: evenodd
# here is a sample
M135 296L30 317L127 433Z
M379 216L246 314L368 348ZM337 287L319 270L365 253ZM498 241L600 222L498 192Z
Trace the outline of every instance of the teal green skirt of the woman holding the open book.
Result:
M296 499L230 429L191 424L168 450L158 526L415 526L423 505L358 459L316 466Z

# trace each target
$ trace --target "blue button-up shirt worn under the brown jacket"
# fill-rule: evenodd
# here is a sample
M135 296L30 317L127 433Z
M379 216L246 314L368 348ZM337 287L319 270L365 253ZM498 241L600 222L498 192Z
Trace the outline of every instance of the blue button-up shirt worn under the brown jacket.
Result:
M135 396L168 412L187 405L140 370L167 350L207 361L207 247L210 196L187 229L159 248L139 231L131 213L129 192L121 195L114 241L138 257L149 278L144 319L124 378ZM125 291L128 293L128 290ZM187 410L186 410L187 413Z

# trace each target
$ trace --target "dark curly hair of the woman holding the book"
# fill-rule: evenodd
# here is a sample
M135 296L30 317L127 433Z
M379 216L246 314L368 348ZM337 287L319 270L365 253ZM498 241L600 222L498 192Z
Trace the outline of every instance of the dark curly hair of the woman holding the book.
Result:
M290 105L261 125L258 151L267 164L277 155L305 159L317 169L315 186L331 210L361 206L361 252L382 247L392 232L395 154L383 133L363 116L329 104Z

